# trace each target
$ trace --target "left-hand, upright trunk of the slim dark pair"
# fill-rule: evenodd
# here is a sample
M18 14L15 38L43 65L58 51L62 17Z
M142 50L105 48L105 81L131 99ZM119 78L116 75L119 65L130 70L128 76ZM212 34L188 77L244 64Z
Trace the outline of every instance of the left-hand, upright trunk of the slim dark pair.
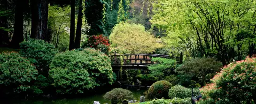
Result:
M71 17L70 17L70 47L69 50L74 49L75 44L75 0L71 0Z

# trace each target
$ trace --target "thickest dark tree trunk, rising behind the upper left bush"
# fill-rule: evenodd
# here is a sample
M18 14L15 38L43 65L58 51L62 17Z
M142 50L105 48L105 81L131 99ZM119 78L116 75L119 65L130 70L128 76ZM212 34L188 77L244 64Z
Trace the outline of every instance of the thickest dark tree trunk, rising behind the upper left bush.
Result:
M47 30L48 0L31 1L31 38L49 41Z

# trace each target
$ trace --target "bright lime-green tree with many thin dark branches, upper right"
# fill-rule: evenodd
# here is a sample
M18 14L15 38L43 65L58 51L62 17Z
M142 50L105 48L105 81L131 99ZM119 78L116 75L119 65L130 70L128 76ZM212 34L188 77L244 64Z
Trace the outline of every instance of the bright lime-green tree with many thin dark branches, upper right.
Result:
M187 57L217 56L225 65L241 52L235 45L240 30L255 29L255 0L154 1L152 29L163 30L171 52ZM245 55L247 51L242 50Z

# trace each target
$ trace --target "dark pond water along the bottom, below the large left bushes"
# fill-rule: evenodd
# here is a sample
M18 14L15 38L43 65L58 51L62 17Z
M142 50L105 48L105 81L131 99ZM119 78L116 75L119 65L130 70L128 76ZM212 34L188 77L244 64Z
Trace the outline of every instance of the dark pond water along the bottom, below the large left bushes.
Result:
M146 90L131 90L135 100L140 101L140 96L145 96ZM101 104L108 103L110 101L103 98L104 94L96 94L87 97L76 98L61 98L61 99L49 99L49 98L32 98L32 99L20 99L20 100L8 100L4 104L93 104L93 101L99 101ZM147 100L147 99L146 99ZM3 104L3 103L1 103Z

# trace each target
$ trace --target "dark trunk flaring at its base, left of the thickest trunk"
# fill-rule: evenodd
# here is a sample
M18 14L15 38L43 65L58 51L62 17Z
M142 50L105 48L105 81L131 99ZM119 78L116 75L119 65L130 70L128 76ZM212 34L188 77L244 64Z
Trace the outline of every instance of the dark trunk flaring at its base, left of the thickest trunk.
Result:
M19 43L24 40L23 37L23 0L16 0L14 34L10 46L19 48Z

